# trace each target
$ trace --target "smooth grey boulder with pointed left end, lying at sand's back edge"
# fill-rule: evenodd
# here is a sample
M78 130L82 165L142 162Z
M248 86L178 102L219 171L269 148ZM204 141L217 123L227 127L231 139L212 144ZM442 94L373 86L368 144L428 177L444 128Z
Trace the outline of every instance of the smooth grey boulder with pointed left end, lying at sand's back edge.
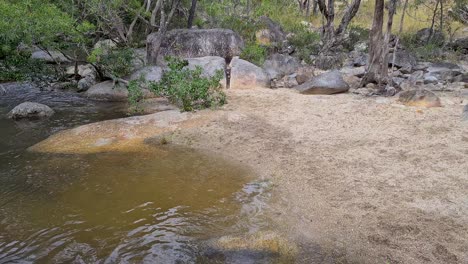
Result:
M302 94L336 94L348 91L349 85L339 71L330 71L294 88Z

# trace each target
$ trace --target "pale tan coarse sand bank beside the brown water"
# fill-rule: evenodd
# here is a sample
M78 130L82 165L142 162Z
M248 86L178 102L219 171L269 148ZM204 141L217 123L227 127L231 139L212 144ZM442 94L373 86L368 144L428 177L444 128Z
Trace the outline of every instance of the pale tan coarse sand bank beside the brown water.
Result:
M468 263L468 122L460 98L440 95L443 107L418 108L395 98L229 90L228 105L185 116L196 122L171 123L163 136L271 180L270 214L298 242L298 263ZM121 138L145 140L153 123ZM60 134L60 145L79 136ZM51 151L54 140L36 150Z

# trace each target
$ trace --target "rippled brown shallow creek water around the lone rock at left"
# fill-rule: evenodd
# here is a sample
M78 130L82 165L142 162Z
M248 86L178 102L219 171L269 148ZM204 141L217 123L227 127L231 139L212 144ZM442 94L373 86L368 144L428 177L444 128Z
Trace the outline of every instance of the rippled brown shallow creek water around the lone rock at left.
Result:
M171 146L26 152L57 131L125 116L125 107L26 85L7 90L0 97L0 263L194 263L203 241L265 226L268 184L210 153ZM5 118L26 100L56 114L34 122Z

